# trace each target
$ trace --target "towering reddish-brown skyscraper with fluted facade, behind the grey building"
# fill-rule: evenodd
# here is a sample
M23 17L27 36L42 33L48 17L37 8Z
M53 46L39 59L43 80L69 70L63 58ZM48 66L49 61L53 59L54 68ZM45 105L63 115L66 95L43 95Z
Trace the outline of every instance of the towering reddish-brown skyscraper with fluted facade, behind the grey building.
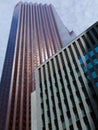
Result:
M35 69L73 38L52 5L15 6L0 83L0 130L30 130Z

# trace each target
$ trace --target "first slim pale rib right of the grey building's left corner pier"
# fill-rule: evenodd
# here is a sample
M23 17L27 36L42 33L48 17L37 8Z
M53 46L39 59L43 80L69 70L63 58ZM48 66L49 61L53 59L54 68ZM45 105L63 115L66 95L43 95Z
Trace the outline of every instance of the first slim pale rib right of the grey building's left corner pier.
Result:
M44 115L45 115L45 127L46 130L49 130L48 128L48 116L47 116L47 107L46 107L46 99L45 99L45 85L44 85L44 75L43 75L43 67L41 67L41 81L42 81L42 91L43 91L43 99L44 99Z

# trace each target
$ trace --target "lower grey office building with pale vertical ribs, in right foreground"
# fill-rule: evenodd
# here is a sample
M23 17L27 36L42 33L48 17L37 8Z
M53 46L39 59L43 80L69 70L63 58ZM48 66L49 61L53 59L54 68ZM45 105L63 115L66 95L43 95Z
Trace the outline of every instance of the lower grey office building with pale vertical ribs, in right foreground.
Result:
M36 69L31 115L32 130L98 129L98 22Z

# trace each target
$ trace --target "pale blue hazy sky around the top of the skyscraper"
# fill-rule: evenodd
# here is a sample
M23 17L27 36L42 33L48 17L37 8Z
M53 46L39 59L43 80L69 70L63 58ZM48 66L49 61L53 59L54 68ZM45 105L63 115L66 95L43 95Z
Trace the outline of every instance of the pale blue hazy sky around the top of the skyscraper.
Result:
M64 25L78 36L98 21L98 0L22 0L53 4ZM9 38L11 20L19 0L0 0L0 78Z

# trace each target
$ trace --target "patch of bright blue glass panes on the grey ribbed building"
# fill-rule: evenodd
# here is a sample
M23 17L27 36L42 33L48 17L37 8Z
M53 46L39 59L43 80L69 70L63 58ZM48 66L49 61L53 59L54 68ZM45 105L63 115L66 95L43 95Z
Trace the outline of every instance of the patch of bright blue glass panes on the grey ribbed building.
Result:
M89 54L84 54L84 62L86 62L86 66L83 63L82 58L78 58L80 65L85 73L85 75L87 76L88 80L94 80L95 82L95 86L98 87L98 74L96 73L95 67L98 68L98 58L96 57L98 55L98 46L96 45L94 47L94 51L92 49L88 50ZM90 58L89 58L90 57ZM91 59L91 61L90 61ZM89 72L88 72L89 69ZM91 75L91 76L90 76Z

